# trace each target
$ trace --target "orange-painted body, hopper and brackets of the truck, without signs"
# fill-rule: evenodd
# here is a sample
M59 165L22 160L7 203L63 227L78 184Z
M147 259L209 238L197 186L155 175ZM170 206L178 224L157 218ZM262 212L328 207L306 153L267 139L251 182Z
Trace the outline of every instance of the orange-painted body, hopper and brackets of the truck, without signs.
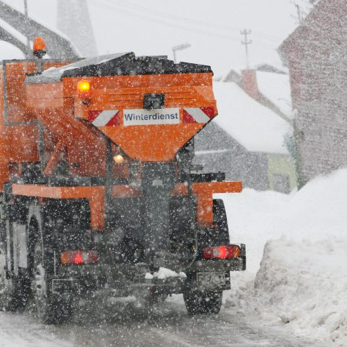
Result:
M61 68L70 62L42 60L42 70ZM25 162L44 162L44 174L53 173L64 157L71 175L96 177L106 174L106 138L112 140L112 155L124 153L126 160L113 169L115 178L128 177L128 164L170 162L178 151L217 115L212 90L212 72L196 74L144 74L135 76L62 77L58 81L25 83L35 74L35 61L5 61L0 67L0 189L12 176L20 176ZM91 86L89 101L78 93L78 81ZM124 110L143 108L145 94L165 94L164 108L176 110L176 124L124 124ZM208 121L196 121L187 113L200 108ZM117 112L113 124L94 126L94 115L108 110ZM165 117L165 116L164 116ZM41 133L40 133L41 128ZM42 131L43 130L43 131ZM40 149L37 143L44 143ZM42 160L44 159L44 160ZM212 224L212 194L240 192L239 182L194 183L198 197L198 225ZM136 191L136 187L115 186L117 191ZM172 190L173 196L180 189ZM186 192L184 191L186 190ZM104 187L41 187L16 185L14 192L42 198L79 198L90 200L92 229L104 226ZM127 192L126 194L133 194ZM187 194L181 189L179 194ZM121 194L120 194L121 195ZM98 206L98 208L95 208Z

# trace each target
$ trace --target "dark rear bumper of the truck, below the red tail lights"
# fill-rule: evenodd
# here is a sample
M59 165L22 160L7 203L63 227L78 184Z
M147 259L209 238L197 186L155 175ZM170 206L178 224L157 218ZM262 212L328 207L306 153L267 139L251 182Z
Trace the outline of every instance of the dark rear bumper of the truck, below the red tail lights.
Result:
M230 260L198 260L192 264L180 264L176 272L184 272L186 278L145 279L146 264L85 264L60 266L53 279L52 289L56 294L89 296L135 295L138 291L152 294L180 294L189 290L230 289L230 271L246 269L246 257Z

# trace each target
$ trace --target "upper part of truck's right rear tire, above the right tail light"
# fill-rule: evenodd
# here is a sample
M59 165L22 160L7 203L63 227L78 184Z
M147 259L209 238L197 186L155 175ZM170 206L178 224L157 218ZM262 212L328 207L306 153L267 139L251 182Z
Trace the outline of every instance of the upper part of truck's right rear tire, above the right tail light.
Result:
M228 230L228 219L226 218L226 208L223 200L213 200L213 223L216 226L216 232L212 239L211 246L220 246L230 244L230 236Z

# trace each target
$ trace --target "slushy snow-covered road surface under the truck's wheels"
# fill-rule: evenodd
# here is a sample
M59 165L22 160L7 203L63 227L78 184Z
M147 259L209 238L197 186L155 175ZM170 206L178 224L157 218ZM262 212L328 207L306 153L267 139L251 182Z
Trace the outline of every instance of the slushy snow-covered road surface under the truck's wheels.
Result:
M230 310L189 317L180 296L157 308L145 317L133 316L130 305L119 305L106 320L85 311L69 325L56 326L37 323L30 312L1 313L0 346L330 346L265 327Z

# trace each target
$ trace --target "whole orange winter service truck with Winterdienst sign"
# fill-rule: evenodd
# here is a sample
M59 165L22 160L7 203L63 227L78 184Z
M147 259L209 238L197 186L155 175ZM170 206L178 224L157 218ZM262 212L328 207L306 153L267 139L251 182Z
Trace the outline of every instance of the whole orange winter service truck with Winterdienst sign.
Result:
M42 50L43 51L43 50ZM192 163L194 135L217 115L209 66L119 53L0 65L0 301L33 297L44 323L79 298L183 293L217 313L230 271L223 201L241 192Z

